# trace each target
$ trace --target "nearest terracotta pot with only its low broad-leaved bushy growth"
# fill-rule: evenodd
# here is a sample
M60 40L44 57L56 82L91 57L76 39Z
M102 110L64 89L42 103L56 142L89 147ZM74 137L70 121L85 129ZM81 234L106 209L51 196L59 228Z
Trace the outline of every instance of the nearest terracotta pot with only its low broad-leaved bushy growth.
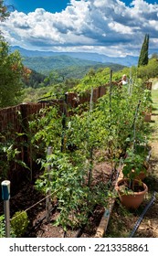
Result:
M147 172L147 161L144 154L127 151L122 168L123 178L116 185L116 190L122 205L126 208L138 208L148 191L148 187L142 182Z

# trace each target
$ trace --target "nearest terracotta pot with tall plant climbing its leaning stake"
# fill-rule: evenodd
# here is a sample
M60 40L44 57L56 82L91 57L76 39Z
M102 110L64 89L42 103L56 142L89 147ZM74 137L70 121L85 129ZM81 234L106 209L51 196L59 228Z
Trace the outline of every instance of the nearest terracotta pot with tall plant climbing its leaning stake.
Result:
M122 168L123 178L116 185L121 203L126 208L138 208L148 191L148 187L142 182L143 177L141 176L142 174L146 175L148 168L146 162L148 147L142 140L145 129L139 114L141 105L142 101L139 100L134 114L131 139L129 138L132 144L126 149Z

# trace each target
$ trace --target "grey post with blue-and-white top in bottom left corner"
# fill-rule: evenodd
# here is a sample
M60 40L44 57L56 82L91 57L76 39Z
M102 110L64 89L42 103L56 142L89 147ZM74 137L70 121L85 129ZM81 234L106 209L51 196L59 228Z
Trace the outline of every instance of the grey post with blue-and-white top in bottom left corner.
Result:
M10 238L10 181L4 180L1 183L2 187L2 199L4 200L4 212L5 212L5 237Z

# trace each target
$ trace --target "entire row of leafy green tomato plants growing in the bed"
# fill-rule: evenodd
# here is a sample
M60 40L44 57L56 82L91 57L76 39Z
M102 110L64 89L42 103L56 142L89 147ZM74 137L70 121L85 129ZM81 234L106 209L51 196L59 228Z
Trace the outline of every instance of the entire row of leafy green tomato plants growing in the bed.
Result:
M101 72L105 70L100 70ZM95 85L96 76L96 72L91 69L87 75L88 83ZM101 74L100 80L102 78ZM68 226L74 228L86 223L94 205L99 202L101 205L105 204L105 195L110 196L107 187L100 182L91 186L93 161L97 161L93 152L109 152L112 168L119 162L121 155L125 155L133 140L137 139L133 133L133 123L140 100L142 104L135 121L135 132L139 139L144 136L146 125L142 109L148 105L148 96L140 80L133 82L132 93L126 88L120 89L112 85L111 90L109 88L97 103L80 106L68 115L65 127L61 125L62 118L57 118L55 109L53 112L49 110L42 113L42 118L38 116L35 123L32 123L33 131L36 131L35 139L32 140L34 147L36 144L35 150L39 145L41 152L46 152L49 145L53 147L52 155L41 155L38 159L45 173L37 180L37 188L45 193L47 189L56 192L60 209L57 225L67 229ZM48 176L51 177L50 180Z

